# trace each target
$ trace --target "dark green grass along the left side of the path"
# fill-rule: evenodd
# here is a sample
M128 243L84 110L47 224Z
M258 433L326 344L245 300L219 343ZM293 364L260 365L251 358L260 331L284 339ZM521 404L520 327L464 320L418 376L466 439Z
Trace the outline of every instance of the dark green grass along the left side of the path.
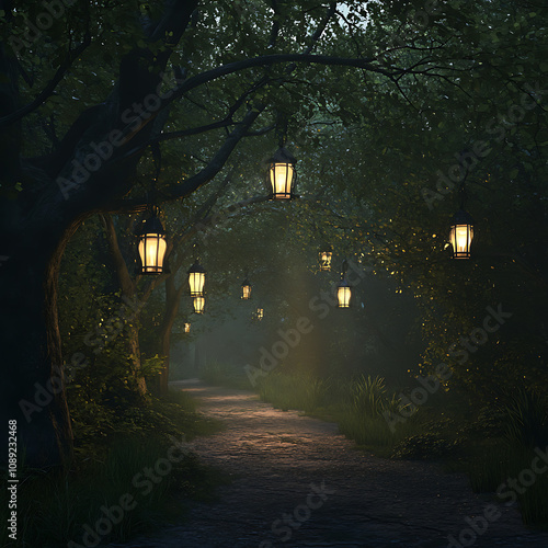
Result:
M140 424L136 431L134 416L125 434L85 439L65 468L44 471L20 464L18 543L10 545L2 527L0 546L58 548L70 540L87 546L84 535L93 546L126 541L181 521L192 501L212 500L226 479L202 465L184 443L214 432L217 424L203 420L184 392L156 400L142 416L151 419L148 429ZM174 441L181 450L172 449ZM3 490L0 496L3 523L7 494Z

